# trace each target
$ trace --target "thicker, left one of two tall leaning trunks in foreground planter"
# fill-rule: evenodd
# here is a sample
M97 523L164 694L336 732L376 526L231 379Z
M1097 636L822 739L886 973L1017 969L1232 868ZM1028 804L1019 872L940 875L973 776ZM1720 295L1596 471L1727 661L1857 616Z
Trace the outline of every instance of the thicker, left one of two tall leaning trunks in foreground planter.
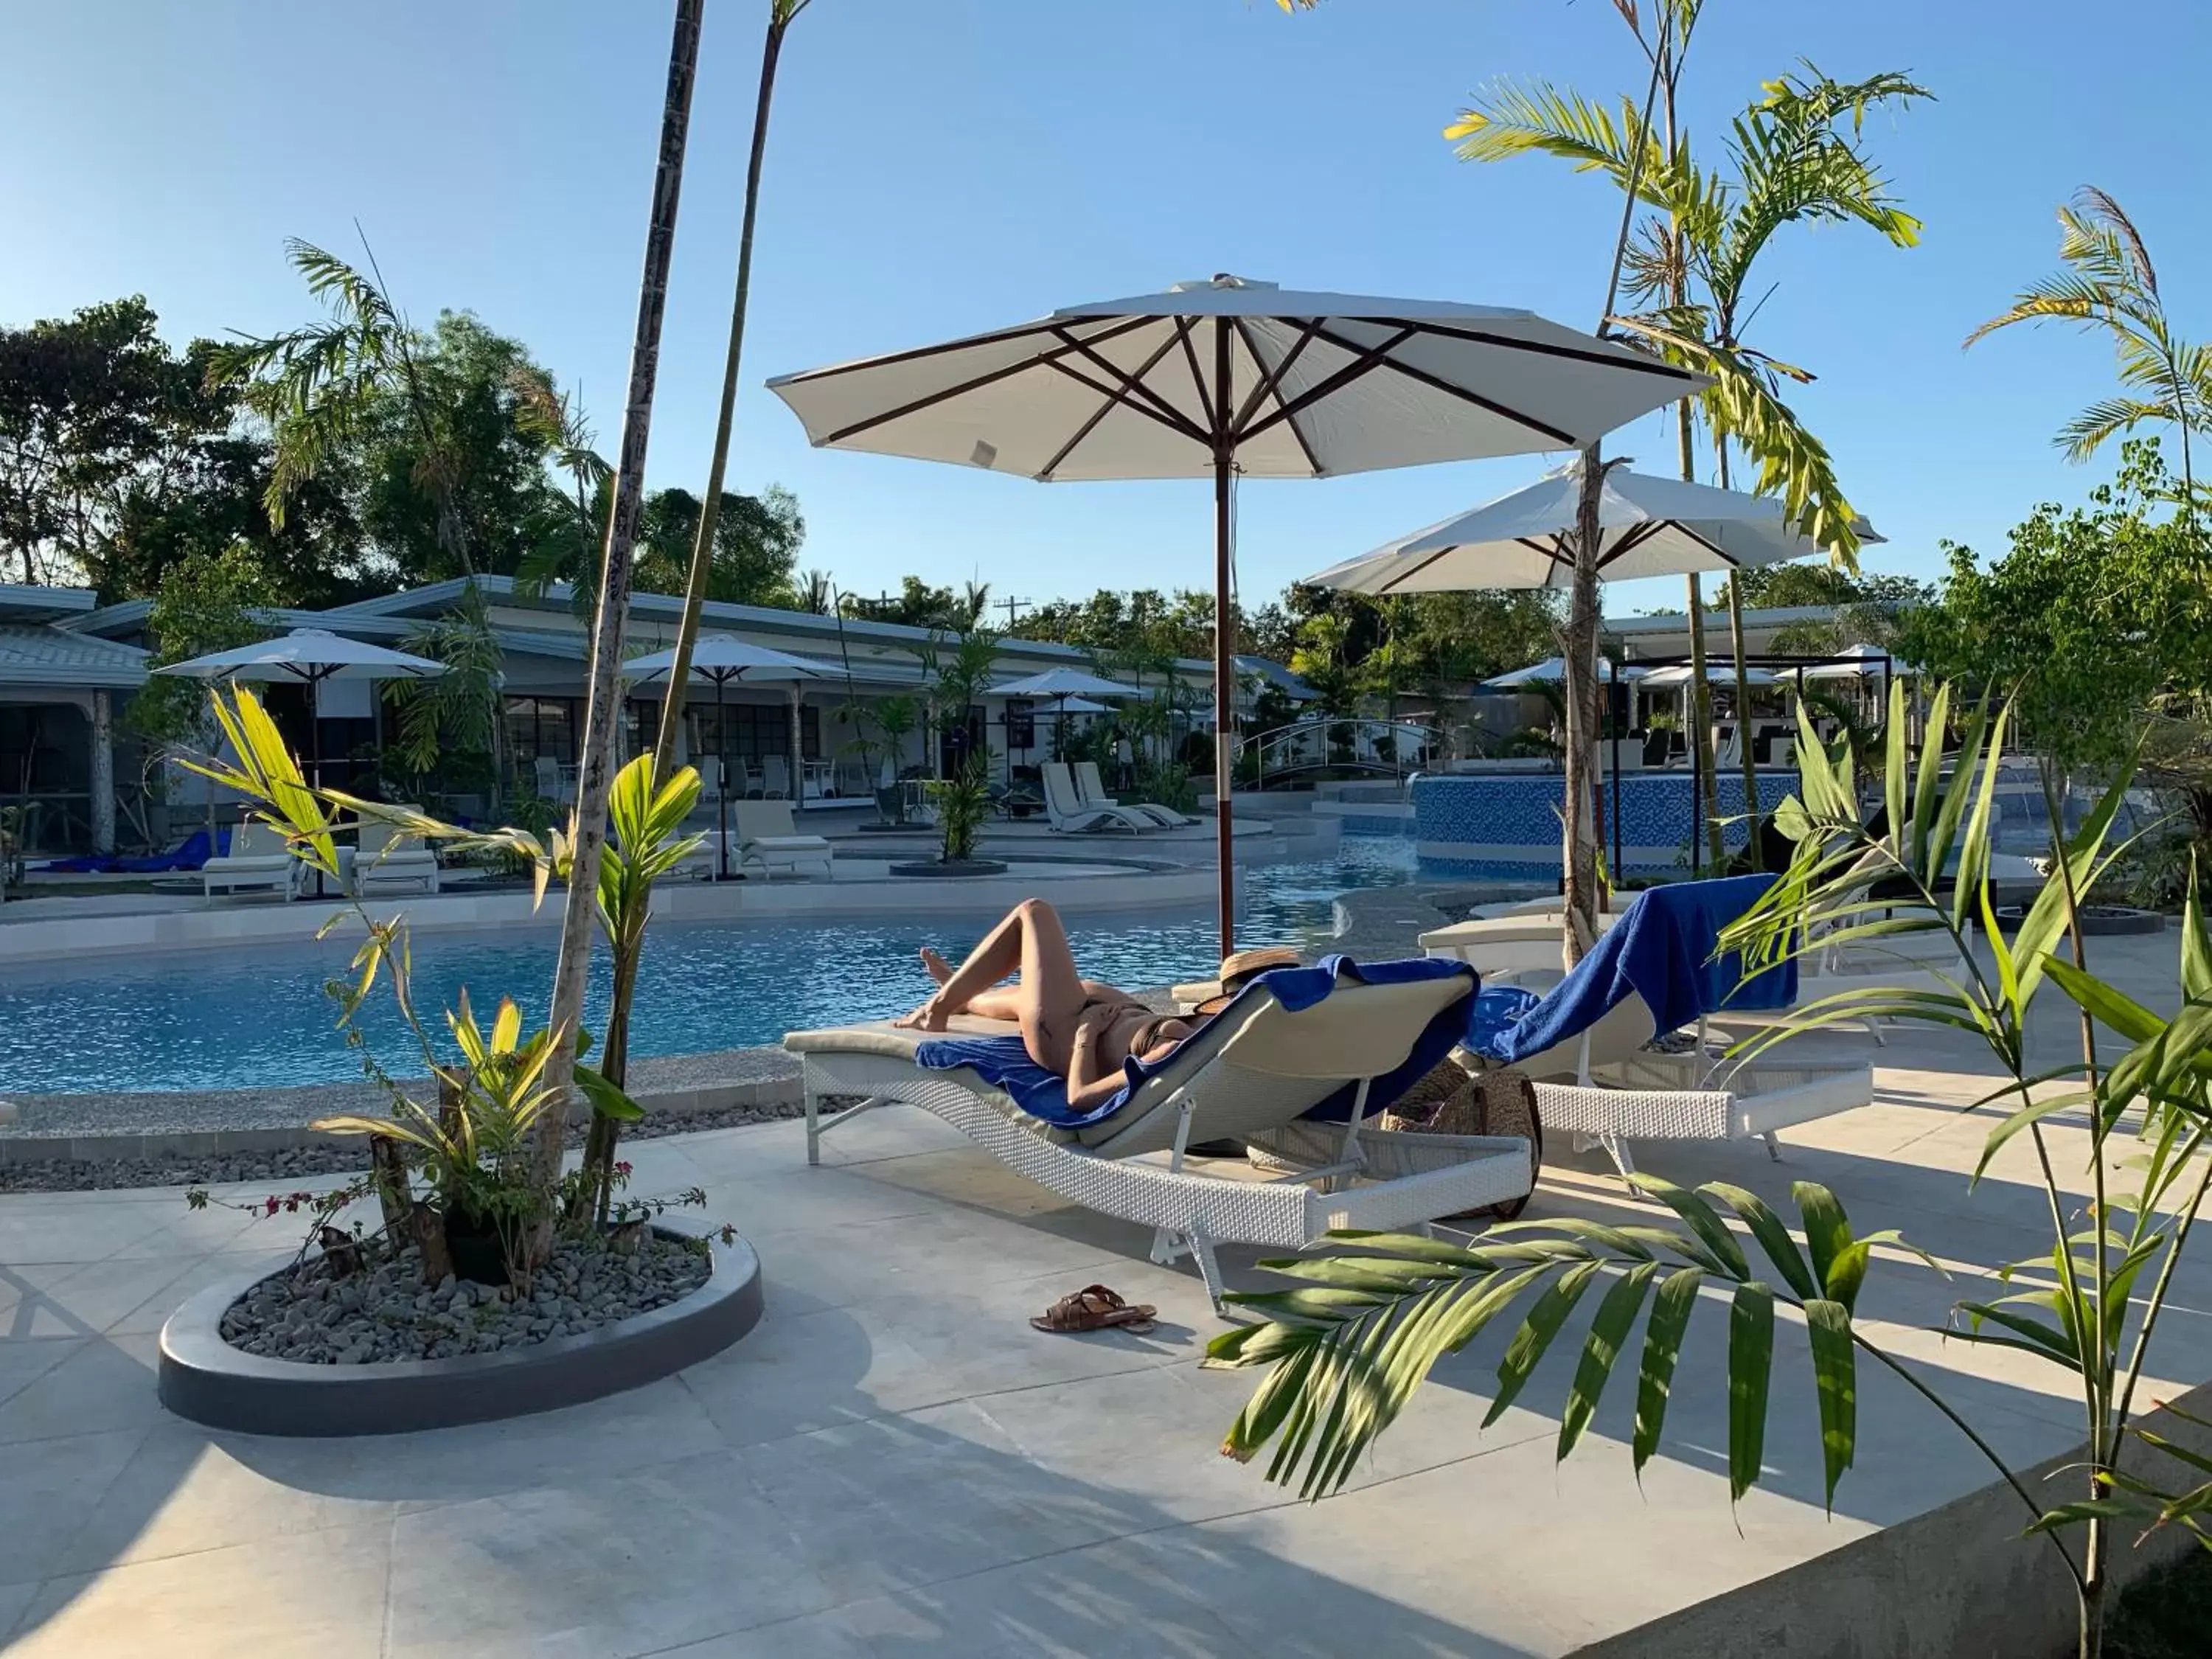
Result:
M599 562L599 608L591 622L591 701L577 768L571 821L568 889L562 898L560 964L553 969L553 1011L546 1026L573 1042L584 1020L584 975L597 920L599 849L606 843L606 792L615 776L615 728L622 712L617 670L622 633L630 613L630 555L646 495L646 442L653 431L653 385L661 363L661 319L668 312L668 263L677 241L677 201L684 192L684 142L690 131L692 82L699 75L699 22L706 0L677 0L668 44L668 91L661 100L661 153L653 175L646 221L646 268L637 288L637 334L630 343L630 394L622 409L622 453L615 467L615 507L606 522ZM566 1110L544 1113L533 1146L533 1177L544 1197L544 1219L531 1232L526 1256L540 1265L553 1250L553 1181Z

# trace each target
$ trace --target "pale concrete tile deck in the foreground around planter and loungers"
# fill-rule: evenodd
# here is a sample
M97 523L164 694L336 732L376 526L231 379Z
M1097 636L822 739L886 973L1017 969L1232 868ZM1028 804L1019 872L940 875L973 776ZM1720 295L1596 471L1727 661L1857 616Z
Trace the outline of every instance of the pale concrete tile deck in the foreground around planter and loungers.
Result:
M2172 1009L2177 936L2095 940L2093 967ZM2033 1064L2066 1053L2055 1000ZM1865 1053L1849 1037L1820 1037ZM2079 1436L2068 1380L1929 1327L2048 1239L1980 1046L1898 1031L1874 1106L1756 1146L1639 1148L1677 1181L1785 1206L1825 1181L1860 1232L1949 1270L1876 1263L1863 1314L2008 1458ZM2055 1128L2075 1172L2077 1128ZM2130 1148L2132 1150L2132 1148ZM1920 1515L1989 1480L1918 1396L1863 1367L1836 1517L1803 1336L1785 1327L1767 1482L1723 1475L1719 1307L1699 1314L1661 1455L1628 1469L1632 1389L1553 1469L1575 1363L1478 1431L1509 1332L1458 1356L1318 1506L1214 1455L1250 1376L1197 1369L1221 1329L1146 1237L1004 1172L922 1113L880 1113L805 1168L796 1124L639 1144L635 1190L699 1183L761 1252L768 1318L668 1383L568 1411L349 1442L192 1429L153 1398L153 1345L199 1285L279 1263L283 1223L177 1190L0 1197L0 1641L11 1659L270 1652L686 1659L1336 1659L1564 1655ZM2115 1150L2115 1157L2119 1150ZM257 1190L234 1188L239 1197ZM1553 1148L1533 1214L1663 1219ZM1785 1208L1787 1214L1787 1208ZM1256 1283L1248 1252L1225 1252ZM1031 1332L1091 1281L1159 1305L1150 1336ZM2212 1376L2212 1265L2190 1256L2150 1398Z

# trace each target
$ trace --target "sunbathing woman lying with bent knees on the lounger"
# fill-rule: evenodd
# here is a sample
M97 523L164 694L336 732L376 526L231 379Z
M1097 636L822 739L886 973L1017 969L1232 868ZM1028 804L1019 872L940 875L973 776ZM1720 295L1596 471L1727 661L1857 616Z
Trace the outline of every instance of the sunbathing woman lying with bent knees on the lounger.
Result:
M1283 967L1298 960L1292 951L1250 951L1248 956L1265 956L1267 960L1248 967L1241 978L1261 971L1261 967ZM1234 962L1241 964L1243 958ZM1060 911L1042 898L1024 898L1015 905L1006 920L984 933L982 945L958 969L947 967L942 956L927 949L922 967L938 982L938 993L900 1020L900 1026L945 1031L956 1013L1013 1020L1022 1026L1022 1046L1029 1048L1029 1057L1068 1079L1068 1106L1077 1110L1113 1099L1124 1082L1124 1060L1135 1055L1146 1064L1157 1064L1201 1024L1201 1020L1155 1013L1128 991L1077 973ZM1000 987L1009 973L1018 975L1018 982ZM1201 1013L1212 1011L1206 1006Z

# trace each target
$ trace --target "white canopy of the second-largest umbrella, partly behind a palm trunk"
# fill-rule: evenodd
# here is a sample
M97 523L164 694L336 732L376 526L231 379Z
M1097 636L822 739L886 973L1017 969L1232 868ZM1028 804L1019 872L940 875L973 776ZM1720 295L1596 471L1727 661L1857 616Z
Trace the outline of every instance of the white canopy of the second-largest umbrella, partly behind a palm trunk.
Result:
M1566 588L1575 582L1575 507L1582 460L1526 489L1305 577L1347 593L1462 593L1469 588ZM1734 489L1606 471L1597 507L1604 582L1648 575L1747 571L1818 553L1792 529L1783 504ZM1863 542L1882 538L1865 522Z

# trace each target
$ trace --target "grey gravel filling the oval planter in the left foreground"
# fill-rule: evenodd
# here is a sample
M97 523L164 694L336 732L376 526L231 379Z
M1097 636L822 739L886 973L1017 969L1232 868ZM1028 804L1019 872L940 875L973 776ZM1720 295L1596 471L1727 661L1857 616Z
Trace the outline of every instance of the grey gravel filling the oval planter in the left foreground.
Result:
M580 1336L664 1307L708 1281L706 1250L644 1232L635 1252L568 1239L531 1294L447 1274L422 1285L409 1245L374 1267L334 1274L327 1256L272 1274L223 1310L223 1340L246 1354L307 1365L442 1360Z

